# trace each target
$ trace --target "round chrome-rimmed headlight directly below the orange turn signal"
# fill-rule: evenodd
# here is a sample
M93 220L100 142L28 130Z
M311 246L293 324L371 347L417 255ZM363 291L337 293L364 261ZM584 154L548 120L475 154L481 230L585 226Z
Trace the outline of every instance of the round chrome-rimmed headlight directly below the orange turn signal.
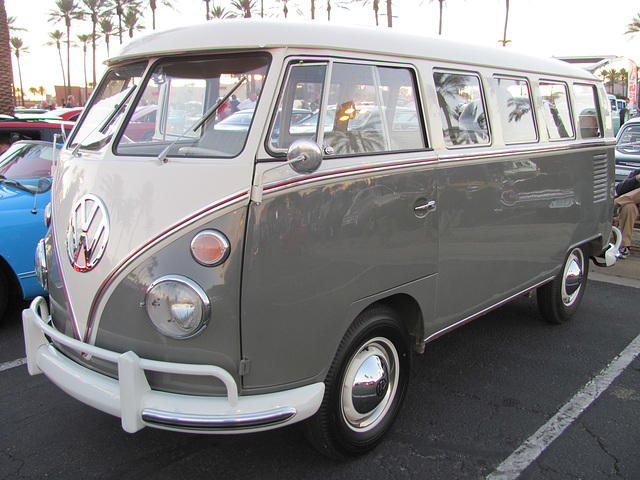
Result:
M209 323L209 297L194 281L169 275L147 290L145 309L151 324L163 335L176 339L198 335Z

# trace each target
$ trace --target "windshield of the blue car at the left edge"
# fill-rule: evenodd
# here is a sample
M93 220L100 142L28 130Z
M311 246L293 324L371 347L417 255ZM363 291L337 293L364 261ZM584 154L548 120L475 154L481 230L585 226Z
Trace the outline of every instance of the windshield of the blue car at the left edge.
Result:
M14 143L0 157L0 178L24 180L51 176L53 144Z

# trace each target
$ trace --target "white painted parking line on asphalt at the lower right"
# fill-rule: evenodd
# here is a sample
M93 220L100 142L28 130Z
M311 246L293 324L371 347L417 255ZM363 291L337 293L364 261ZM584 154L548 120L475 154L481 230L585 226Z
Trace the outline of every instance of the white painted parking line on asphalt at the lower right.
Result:
M602 370L551 420L530 436L509 458L502 462L487 480L513 480L533 463L542 452L571 425L596 398L620 375L640 354L640 335L638 335L607 368Z

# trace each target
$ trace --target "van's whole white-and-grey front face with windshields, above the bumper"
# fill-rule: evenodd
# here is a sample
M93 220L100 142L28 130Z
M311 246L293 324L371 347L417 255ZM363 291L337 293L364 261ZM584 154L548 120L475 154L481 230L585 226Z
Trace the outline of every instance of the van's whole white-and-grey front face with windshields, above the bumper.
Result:
M251 151L240 152L267 65L265 55L210 56L107 73L55 173L51 263L60 284L51 305L61 332L114 352L217 365L240 383L241 258L254 164ZM220 99L232 91L251 104L249 124L215 128L230 114ZM224 258L199 258L218 236ZM117 376L113 362L59 348ZM168 392L221 393L220 381L202 376L147 378Z

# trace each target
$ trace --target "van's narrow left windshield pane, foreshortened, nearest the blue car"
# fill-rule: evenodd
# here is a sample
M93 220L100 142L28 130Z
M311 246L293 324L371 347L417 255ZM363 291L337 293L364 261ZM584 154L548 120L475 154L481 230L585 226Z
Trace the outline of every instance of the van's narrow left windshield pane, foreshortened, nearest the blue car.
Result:
M93 95L89 112L71 139L71 147L100 150L117 131L127 106L135 96L146 63L110 70Z

